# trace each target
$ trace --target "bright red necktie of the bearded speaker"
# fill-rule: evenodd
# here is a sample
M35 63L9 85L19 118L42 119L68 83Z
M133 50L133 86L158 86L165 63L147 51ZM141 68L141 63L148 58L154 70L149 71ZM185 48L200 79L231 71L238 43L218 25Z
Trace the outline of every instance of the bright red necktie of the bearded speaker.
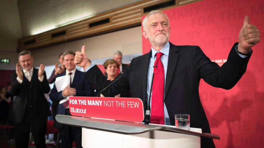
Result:
M162 52L156 53L154 63L154 79L151 97L150 123L164 125L164 67L160 57Z

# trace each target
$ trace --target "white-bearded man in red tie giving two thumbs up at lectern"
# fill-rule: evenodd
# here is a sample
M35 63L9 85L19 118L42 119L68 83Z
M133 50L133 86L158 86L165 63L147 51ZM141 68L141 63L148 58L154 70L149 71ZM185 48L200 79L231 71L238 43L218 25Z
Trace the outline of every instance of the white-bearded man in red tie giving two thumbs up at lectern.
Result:
M126 71L119 74L118 77L122 75L123 78L102 94L116 95L130 89L131 97L142 99L146 110L153 69L157 67L156 62L154 65L154 61L158 59L156 53L162 52L160 60L164 65L165 83L163 82L164 90L160 91L164 91L164 124L175 125L174 114L190 114L190 127L202 128L202 132L210 133L209 123L199 97L200 79L204 79L214 87L224 89L236 85L247 68L252 53L251 47L260 41L259 30L249 24L249 17L245 16L243 27L239 32L239 43L235 43L227 62L219 67L217 63L211 62L198 46L176 46L168 42L170 24L164 13L150 12L143 20L142 26L144 37L148 38L152 45L151 51L134 58ZM91 65L87 59L83 46L81 52L76 52L74 63L84 67L87 71L85 77L96 89L101 90L109 85L110 81L103 77L99 68ZM153 102L150 104L153 105ZM153 116L150 117L151 123L152 118ZM212 139L202 137L201 147L215 146Z

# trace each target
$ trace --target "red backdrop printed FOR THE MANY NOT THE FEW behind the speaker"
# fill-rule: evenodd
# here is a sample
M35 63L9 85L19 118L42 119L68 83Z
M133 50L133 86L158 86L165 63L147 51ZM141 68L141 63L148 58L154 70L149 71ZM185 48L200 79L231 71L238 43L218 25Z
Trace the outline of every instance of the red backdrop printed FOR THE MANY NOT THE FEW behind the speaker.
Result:
M170 42L198 45L220 66L238 42L245 15L264 35L264 1L260 0L204 0L164 13L170 19ZM142 46L143 54L150 51L151 45L143 36ZM234 88L214 88L201 80L200 97L211 132L221 137L214 140L217 147L264 147L263 47L261 38L252 48L246 73Z

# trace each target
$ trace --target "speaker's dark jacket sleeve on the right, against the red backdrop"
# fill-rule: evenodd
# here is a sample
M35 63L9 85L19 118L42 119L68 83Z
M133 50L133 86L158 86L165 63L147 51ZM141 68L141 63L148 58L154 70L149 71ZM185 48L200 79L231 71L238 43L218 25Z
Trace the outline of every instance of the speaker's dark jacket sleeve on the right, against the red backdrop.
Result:
M196 70L198 70L201 78L206 81L206 83L224 89L231 89L236 85L242 75L247 69L247 63L250 56L246 58L241 58L236 52L235 43L229 52L227 61L221 66L217 63L206 60L206 57L202 50L194 50L193 56L194 63L196 64ZM201 62L208 61L208 62Z

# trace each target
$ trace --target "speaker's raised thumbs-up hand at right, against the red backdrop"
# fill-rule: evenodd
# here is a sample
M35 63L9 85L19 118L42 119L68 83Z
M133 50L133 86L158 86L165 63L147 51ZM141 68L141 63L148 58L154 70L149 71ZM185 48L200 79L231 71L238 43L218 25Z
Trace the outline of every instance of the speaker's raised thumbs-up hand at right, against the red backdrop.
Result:
M260 41L260 32L258 28L249 23L249 16L245 16L243 27L239 35L238 51L247 54L251 47Z

